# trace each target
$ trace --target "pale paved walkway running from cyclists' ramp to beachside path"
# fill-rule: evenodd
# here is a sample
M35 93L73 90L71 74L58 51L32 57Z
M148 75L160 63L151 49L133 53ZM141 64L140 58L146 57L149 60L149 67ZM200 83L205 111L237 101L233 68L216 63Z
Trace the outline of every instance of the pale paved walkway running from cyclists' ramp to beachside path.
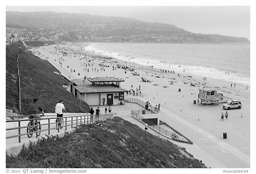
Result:
M92 106L97 108L98 106ZM102 113L104 113L104 106L99 106ZM116 116L123 118L133 124L138 125L140 128L144 129L144 124L139 120L136 120L131 116L131 110L141 110L142 106L139 104L125 103L124 105L112 106L112 112L116 112ZM151 114L150 114L151 115ZM175 143L181 147L185 147L186 150L191 153L194 158L201 160L206 166L211 168L250 168L250 156L244 154L240 150L228 145L224 140L217 139L208 132L202 130L201 128L183 120L182 118L176 116L172 112L161 107L159 114L154 114L160 120L163 120L170 126L176 128L177 131L182 133L188 139L190 139L193 144L179 143L169 139L172 143ZM147 114L144 115L147 118ZM152 117L152 116L150 116ZM74 131L74 129L68 128L68 132ZM51 130L52 132L52 130ZM61 129L59 135L64 135L65 130ZM160 138L166 139L163 135L158 134L152 129L148 129L148 132L159 136ZM44 132L41 133L41 136ZM51 134L56 135L56 132ZM34 136L34 135L33 135ZM36 138L29 139L27 136L22 138L22 143L17 143L18 138L8 139L6 141L6 150L16 149L17 152L20 151L22 144L29 144L29 140L36 142Z

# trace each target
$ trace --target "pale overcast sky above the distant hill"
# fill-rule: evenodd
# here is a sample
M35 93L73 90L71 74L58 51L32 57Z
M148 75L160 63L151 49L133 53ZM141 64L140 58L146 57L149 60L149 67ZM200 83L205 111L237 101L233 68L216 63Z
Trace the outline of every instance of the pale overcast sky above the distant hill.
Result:
M246 37L250 40L250 6L6 6L6 11L131 17L169 23L195 33Z

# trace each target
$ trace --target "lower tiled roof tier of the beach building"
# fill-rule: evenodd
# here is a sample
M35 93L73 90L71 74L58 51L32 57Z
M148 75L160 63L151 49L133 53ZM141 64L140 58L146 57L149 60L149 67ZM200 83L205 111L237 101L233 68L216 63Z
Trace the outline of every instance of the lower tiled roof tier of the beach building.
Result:
M122 88L116 88L114 86L94 86L94 85L84 85L84 86L74 86L76 90L80 93L126 93L128 90Z

